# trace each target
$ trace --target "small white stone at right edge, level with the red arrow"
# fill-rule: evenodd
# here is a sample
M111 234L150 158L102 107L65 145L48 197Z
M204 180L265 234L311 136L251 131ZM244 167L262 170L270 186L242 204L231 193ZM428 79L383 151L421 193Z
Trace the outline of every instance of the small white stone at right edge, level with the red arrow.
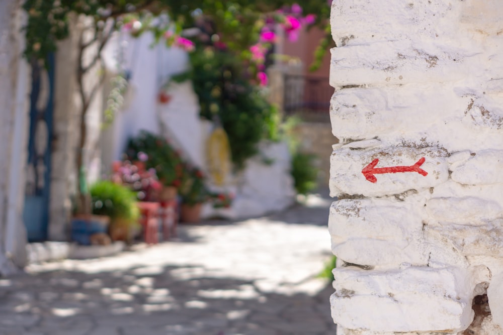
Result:
M452 180L467 185L503 183L503 150L483 150L452 168Z

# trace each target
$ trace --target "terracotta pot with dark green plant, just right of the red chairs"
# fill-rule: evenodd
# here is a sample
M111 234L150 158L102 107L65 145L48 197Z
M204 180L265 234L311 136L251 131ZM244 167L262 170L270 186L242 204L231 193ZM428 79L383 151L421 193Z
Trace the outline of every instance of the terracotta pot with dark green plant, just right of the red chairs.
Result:
M209 191L201 170L192 168L187 172L187 179L180 188L182 206L180 218L182 222L196 223L201 219L202 204L208 200Z

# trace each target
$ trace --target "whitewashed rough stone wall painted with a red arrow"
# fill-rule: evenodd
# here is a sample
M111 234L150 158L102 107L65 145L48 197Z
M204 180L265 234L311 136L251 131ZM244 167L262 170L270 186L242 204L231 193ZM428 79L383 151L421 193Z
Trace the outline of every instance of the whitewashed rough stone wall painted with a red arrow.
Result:
M502 17L498 0L333 1L340 333L503 334Z

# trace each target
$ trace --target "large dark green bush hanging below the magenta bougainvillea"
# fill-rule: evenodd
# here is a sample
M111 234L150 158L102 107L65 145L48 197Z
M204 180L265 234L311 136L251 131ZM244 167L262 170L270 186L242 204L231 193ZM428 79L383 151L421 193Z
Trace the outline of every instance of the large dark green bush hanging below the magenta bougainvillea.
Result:
M189 77L199 96L201 116L221 123L229 138L234 166L242 169L246 159L258 153L261 140L279 139L279 112L259 88L249 83L238 56L205 48L190 58Z

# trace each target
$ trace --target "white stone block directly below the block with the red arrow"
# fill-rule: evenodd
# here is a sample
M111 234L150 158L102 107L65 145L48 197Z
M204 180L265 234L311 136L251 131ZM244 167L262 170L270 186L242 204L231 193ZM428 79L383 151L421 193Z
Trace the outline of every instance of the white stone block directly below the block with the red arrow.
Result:
M334 202L328 218L333 254L367 266L427 265L422 217L415 207L391 199Z

